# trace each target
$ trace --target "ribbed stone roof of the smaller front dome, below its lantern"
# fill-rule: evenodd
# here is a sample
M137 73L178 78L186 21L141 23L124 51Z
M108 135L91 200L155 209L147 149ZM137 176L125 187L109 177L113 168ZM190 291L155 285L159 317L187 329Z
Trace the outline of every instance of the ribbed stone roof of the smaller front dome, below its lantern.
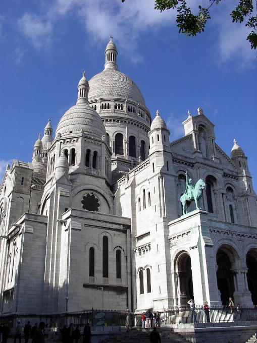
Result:
M98 113L83 102L72 106L64 114L57 126L56 137L59 133L63 136L81 130L97 139L106 135L106 129Z

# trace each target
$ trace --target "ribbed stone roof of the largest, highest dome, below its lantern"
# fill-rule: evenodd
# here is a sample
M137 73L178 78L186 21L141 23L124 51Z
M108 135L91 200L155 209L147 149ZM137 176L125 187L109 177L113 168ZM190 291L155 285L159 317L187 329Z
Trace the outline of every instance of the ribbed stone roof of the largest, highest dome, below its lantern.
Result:
M137 85L116 69L106 69L89 80L88 100L110 98L134 100L145 106L144 98Z

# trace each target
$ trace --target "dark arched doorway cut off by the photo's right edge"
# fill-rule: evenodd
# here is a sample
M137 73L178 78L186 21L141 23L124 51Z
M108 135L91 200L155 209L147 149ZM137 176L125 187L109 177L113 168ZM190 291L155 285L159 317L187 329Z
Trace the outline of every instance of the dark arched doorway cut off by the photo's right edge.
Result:
M257 249L250 249L246 255L247 282L253 305L257 305Z

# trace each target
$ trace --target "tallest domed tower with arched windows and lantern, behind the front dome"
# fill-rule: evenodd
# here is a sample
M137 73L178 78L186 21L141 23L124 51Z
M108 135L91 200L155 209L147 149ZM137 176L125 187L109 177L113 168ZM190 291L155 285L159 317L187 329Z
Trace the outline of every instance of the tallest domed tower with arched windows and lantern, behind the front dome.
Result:
M136 84L118 71L113 37L105 50L104 71L89 80L88 102L104 122L112 148L112 182L148 157L151 116Z

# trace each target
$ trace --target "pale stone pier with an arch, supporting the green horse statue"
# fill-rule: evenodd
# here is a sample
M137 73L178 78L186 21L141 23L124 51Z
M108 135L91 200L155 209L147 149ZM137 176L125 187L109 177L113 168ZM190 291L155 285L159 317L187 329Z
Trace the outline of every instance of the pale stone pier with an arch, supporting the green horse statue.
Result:
M169 222L169 229L172 268L174 265L176 268L176 256L182 251L190 255L195 304L203 305L208 301L209 305L222 305L217 286L208 212L192 211Z

